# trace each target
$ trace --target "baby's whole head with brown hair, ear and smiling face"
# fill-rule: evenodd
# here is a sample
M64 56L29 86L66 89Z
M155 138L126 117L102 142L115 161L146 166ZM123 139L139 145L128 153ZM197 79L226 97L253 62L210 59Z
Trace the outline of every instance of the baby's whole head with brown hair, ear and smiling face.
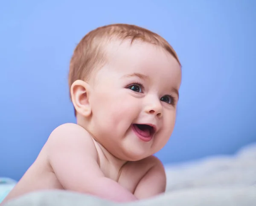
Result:
M180 82L172 46L133 25L90 31L70 62L77 123L122 160L140 160L165 146L175 125Z

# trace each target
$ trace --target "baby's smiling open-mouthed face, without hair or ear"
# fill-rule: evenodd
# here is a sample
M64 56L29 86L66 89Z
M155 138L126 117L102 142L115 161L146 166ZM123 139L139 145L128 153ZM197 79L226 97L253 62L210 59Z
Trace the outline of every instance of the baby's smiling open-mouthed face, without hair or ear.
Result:
M162 149L172 134L180 65L148 43L125 42L110 54L91 83L90 132L116 157L140 160Z

